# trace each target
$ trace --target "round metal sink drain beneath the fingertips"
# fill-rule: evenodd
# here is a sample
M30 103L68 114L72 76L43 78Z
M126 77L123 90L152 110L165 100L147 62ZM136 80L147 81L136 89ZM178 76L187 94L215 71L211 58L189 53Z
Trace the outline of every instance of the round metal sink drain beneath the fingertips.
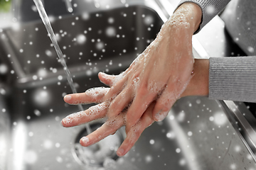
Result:
M97 128L100 128L101 125L101 123L94 123L90 126L92 131L95 131ZM106 164L112 164L119 158L116 152L125 137L125 132L122 128L117 130L114 135L106 137L95 145L82 147L80 145L80 138L86 135L87 131L83 129L76 137L73 147L73 156L79 164L97 168L105 166Z

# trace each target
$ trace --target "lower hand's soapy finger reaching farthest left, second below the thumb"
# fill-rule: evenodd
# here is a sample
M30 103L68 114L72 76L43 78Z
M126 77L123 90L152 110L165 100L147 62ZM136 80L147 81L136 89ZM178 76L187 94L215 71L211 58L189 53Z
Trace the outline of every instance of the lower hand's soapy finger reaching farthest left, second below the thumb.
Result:
M76 125L82 125L83 123L88 123L92 120L104 118L107 114L107 108L107 103L100 103L88 108L86 111L80 111L78 113L68 115L66 118L63 118L61 124L65 128L69 128Z

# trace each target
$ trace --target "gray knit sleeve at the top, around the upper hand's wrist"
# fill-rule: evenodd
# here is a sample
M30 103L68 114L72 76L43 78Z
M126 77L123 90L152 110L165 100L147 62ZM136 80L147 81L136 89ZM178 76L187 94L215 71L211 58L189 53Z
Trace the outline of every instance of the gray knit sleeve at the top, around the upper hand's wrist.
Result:
M198 33L206 23L208 23L214 16L218 15L220 11L230 2L230 0L181 0L178 6L185 2L193 2L198 4L203 11L201 24L195 33ZM176 8L178 8L178 6Z

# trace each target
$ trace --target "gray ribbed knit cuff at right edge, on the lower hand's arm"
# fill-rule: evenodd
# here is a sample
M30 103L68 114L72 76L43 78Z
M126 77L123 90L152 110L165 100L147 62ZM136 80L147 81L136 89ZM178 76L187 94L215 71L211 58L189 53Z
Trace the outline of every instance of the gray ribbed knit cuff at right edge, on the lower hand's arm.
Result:
M256 102L256 57L210 58L209 98Z

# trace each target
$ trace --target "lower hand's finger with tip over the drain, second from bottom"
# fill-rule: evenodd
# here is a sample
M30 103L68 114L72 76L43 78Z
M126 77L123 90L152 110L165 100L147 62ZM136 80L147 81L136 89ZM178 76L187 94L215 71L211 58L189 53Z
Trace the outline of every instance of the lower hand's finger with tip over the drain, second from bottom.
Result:
M86 137L82 137L80 140L80 144L83 147L88 147L90 145L93 145L96 142L103 140L105 137L112 135L119 128L121 128L122 125L124 125L123 113L117 115L114 118L110 118L110 120L107 120L106 123L104 123L100 128L98 128L94 132L90 133L90 135L87 135Z

